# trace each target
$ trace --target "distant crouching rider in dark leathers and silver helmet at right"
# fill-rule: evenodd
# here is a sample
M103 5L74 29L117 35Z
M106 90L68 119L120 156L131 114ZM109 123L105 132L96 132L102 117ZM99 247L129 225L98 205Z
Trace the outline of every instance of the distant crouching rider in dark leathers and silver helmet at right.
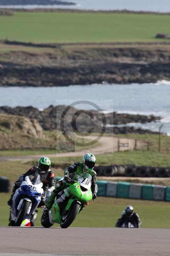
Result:
M125 207L124 212L122 212L122 217L117 220L115 227L121 228L121 226L125 222L132 223L132 225L134 225L135 228L141 227L142 222L139 218L139 215L136 212L133 212L133 206L131 205Z

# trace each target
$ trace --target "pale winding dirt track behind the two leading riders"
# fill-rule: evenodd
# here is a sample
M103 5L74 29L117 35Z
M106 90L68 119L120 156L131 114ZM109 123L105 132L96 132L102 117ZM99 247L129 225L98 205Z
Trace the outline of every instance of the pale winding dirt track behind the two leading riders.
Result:
M96 136L89 136L88 140L94 140ZM48 157L72 157L72 156L83 156L85 153L92 153L94 155L107 155L113 156L113 153L118 150L118 138L112 136L103 136L100 139L100 145L92 147L91 149L83 148L76 150L75 152L69 152L66 150L58 150L56 154L48 154ZM129 144L129 149L134 147L133 139L126 139ZM124 150L126 148L122 148ZM40 158L42 155L29 155L29 156L0 156L0 161L20 161L20 160L31 160Z

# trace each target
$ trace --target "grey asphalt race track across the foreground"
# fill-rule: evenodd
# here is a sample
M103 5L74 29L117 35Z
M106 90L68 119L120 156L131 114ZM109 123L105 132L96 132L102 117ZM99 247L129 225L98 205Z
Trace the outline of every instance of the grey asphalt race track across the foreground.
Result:
M0 227L0 256L169 256L169 237L166 228Z

